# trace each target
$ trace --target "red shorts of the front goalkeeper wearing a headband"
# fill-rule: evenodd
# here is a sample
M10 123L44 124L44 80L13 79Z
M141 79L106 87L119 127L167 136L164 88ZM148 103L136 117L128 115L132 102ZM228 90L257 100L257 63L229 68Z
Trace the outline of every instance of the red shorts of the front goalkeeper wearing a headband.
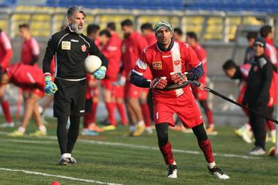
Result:
M174 127L174 113L179 116L184 127L195 127L204 122L192 94L183 94L177 98L154 98L154 123L156 125L169 123Z

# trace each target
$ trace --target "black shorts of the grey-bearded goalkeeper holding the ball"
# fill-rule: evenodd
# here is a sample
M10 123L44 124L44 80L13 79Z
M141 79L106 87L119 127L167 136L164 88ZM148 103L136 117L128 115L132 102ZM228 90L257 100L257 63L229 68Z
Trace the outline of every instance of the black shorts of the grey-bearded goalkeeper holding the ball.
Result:
M83 116L85 112L86 82L55 78L58 90L54 94L54 117Z

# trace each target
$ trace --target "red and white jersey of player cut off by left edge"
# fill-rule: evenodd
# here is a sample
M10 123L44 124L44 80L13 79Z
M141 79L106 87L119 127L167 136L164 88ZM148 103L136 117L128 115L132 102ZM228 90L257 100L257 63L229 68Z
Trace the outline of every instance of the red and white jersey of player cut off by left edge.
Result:
M8 67L10 59L12 58L12 44L10 43L10 38L5 32L0 31L0 65L3 69Z

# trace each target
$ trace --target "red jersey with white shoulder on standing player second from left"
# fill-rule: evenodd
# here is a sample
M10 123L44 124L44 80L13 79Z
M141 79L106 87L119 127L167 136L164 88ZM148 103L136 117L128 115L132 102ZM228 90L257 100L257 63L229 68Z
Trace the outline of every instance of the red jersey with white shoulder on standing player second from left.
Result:
M31 39L22 42L21 52L21 63L31 65L33 58L38 58L40 55L40 46L38 42L31 37ZM34 65L38 65L37 62L38 61L35 61Z

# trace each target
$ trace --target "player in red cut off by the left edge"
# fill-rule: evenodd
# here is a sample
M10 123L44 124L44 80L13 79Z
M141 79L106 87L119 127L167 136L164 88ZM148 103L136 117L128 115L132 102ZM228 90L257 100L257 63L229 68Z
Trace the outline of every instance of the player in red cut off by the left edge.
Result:
M0 29L0 71L3 72L12 58L12 44L8 35ZM12 116L10 116L10 105L8 100L5 99L5 85L0 85L0 102L3 109L3 114L6 119L6 123L0 125L0 127L14 127Z

